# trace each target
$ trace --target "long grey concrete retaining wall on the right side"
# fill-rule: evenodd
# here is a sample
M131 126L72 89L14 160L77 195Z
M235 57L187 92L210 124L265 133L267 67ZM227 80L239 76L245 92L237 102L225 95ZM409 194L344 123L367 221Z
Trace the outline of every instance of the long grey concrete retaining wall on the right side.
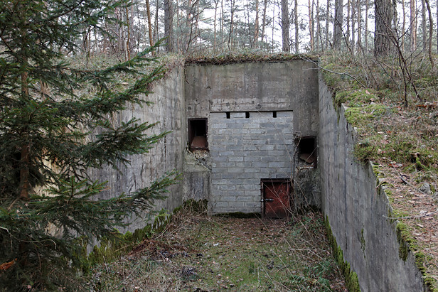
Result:
M422 274L410 253L400 259L395 223L388 216L388 198L376 188L370 163L353 156L355 131L345 109L333 108L331 92L319 82L319 168L322 209L358 274L362 291L424 291Z

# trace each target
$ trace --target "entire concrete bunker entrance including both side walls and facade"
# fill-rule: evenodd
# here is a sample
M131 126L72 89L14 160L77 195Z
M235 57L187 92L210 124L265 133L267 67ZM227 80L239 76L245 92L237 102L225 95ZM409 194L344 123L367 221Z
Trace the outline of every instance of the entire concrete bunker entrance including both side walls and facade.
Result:
M157 208L194 198L208 199L212 214L262 213L269 193L287 193L290 210L321 208L362 291L425 290L415 256L400 258L396 223L384 217L385 190L372 166L353 157L355 131L343 108L333 107L313 62L188 64L154 92L147 112L135 107L117 119L160 121L156 130L171 134L120 169L127 180L112 169L92 173L108 179L114 193L173 168L183 173L182 187L174 185Z

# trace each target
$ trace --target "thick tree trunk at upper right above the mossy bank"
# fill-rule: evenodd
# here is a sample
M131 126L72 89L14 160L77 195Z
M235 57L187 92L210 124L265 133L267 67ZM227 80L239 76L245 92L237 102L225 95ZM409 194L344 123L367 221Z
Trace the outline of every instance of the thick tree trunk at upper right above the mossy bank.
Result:
M389 55L392 47L392 1L375 0L374 55Z

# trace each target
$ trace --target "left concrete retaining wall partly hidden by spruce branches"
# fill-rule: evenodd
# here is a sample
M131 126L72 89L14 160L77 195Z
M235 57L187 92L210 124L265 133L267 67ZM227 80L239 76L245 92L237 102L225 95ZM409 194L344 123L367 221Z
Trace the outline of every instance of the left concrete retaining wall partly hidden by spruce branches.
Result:
M128 156L131 161L129 166L119 166L120 171L112 168L92 170L92 178L108 181L110 190L102 192L101 198L112 198L121 193L132 193L139 188L145 188L157 178L168 171L177 169L183 171L183 68L174 68L165 79L154 83L153 94L146 97L153 102L149 107L138 105L129 107L110 120L114 124L128 121L132 117L140 119L140 122L149 121L159 124L154 126L148 134L159 134L163 131L171 131L164 139L154 144L149 153L144 155ZM168 198L156 202L156 210L166 208L173 210L182 203L183 188L181 185L173 185L169 188ZM141 220L135 220L129 230L145 226Z

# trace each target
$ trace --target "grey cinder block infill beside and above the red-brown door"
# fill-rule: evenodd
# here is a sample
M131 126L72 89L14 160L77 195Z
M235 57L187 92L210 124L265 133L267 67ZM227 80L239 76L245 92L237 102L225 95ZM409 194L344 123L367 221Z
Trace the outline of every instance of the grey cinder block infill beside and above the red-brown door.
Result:
M292 112L212 112L210 210L261 212L260 179L290 178Z

